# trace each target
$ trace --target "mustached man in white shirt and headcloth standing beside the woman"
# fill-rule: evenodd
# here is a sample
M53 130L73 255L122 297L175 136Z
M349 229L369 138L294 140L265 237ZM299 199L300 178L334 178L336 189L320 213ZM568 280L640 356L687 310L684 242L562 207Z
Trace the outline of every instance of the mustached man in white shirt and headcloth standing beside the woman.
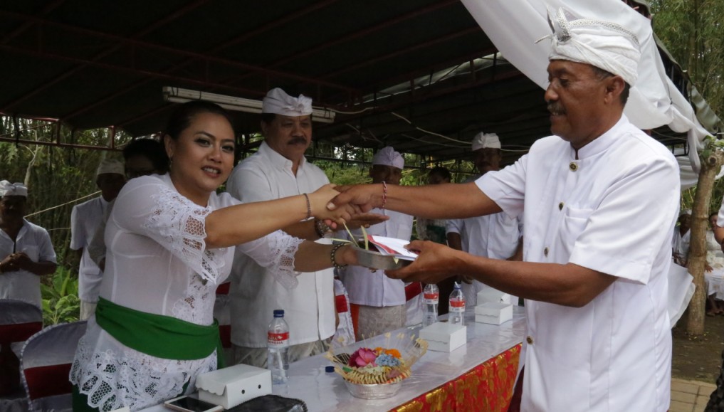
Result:
M292 97L280 88L266 94L261 114L264 141L256 154L234 168L226 186L232 196L245 203L268 201L310 193L329 183L327 175L304 157L312 138L311 103L311 98ZM303 223L287 232L310 239L328 230L322 222ZM287 289L251 258L236 253L230 279L235 363L266 366L266 330L274 309L285 310L290 362L329 348L336 329L332 269L302 273L298 285Z

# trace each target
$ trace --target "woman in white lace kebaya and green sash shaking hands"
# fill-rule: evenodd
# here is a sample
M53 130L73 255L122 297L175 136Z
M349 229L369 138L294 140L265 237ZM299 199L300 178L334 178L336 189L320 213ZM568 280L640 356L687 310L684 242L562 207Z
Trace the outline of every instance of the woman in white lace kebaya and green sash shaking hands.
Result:
M295 271L356 264L349 247L279 231L311 216L349 219L351 209L327 211L332 185L244 205L216 194L232 170L234 141L219 106L179 106L164 137L169 174L130 180L119 194L106 227L101 299L70 372L75 411L156 405L193 392L198 374L217 368L215 290L235 245L287 287Z

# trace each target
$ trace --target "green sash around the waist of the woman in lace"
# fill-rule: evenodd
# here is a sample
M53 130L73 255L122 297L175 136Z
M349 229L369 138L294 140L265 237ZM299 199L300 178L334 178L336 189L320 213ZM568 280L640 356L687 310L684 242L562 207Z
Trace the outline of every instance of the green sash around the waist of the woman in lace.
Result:
M219 322L202 326L171 316L147 314L98 299L96 323L127 347L156 358L193 361L216 349L218 368L224 367Z

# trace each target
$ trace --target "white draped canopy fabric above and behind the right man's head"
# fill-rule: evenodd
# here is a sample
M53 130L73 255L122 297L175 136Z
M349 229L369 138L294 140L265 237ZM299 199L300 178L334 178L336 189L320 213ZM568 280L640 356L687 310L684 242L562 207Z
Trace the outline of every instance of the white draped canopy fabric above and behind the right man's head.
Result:
M535 41L551 33L547 8L563 7L578 18L616 22L628 28L641 43L639 80L631 88L625 114L641 129L668 125L686 133L689 158L679 158L681 186L696 185L698 152L702 140L712 133L696 119L694 109L664 71L656 46L651 20L620 0L461 0L497 49L524 75L547 88L550 41Z

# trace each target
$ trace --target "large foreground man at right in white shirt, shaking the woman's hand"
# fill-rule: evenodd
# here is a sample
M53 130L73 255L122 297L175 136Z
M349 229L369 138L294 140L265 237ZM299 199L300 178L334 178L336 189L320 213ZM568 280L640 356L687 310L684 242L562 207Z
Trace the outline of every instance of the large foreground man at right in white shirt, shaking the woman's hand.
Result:
M547 69L554 136L476 182L387 190L387 209L430 219L522 214L523 262L415 241L416 261L387 274L432 283L465 274L526 298L521 411L666 411L678 167L623 115L635 36L568 20L555 16ZM333 203L379 206L382 187L350 188Z

